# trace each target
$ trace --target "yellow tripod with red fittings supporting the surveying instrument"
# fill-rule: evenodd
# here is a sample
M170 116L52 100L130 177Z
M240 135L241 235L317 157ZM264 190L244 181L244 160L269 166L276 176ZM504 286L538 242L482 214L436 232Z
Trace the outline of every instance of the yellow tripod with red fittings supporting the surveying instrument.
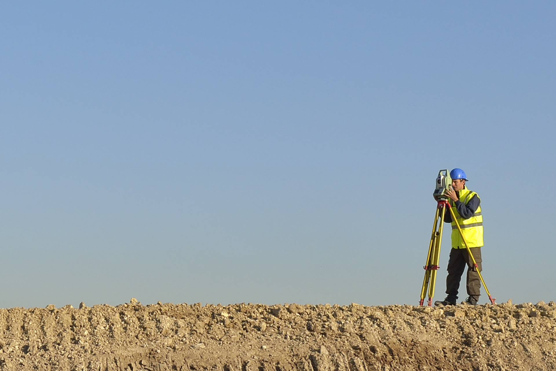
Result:
M438 264L440 261L440 245L442 243L442 230L444 227L444 214L446 214L446 208L450 210L452 220L455 221L455 225L458 227L461 239L465 244L465 249L467 249L471 261L473 261L473 266L476 268L477 273L479 274L479 278L481 279L481 283L483 283L483 287L485 288L486 294L490 299L490 303L496 304L496 298L490 296L488 288L486 288L485 281L483 280L483 275L481 275L479 266L477 265L475 258L473 258L471 250L469 250L469 246L467 245L467 241L465 241L463 231L461 231L461 227L459 226L458 220L456 219L454 210L451 209L450 202L445 199L439 199L438 205L436 206L436 215L434 216L433 233L430 236L429 254L426 256L426 265L423 267L425 269L425 278L423 279L423 288L421 289L421 300L419 301L419 305L423 305L425 301L426 291L427 289L429 289L428 305L433 306L434 286L436 282L436 271L439 268ZM438 222L439 220L440 224Z

